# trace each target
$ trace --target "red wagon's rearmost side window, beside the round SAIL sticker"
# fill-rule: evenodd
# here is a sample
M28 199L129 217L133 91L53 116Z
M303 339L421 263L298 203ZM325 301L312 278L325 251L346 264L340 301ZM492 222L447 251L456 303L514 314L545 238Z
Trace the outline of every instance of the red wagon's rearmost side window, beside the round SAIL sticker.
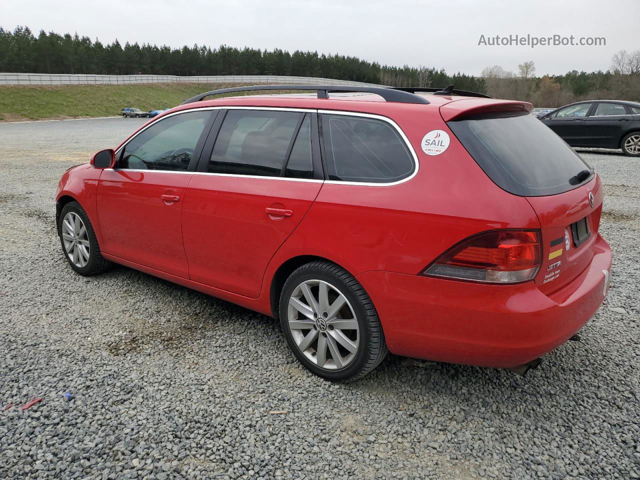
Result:
M322 132L330 180L396 182L415 170L406 143L387 122L324 114Z

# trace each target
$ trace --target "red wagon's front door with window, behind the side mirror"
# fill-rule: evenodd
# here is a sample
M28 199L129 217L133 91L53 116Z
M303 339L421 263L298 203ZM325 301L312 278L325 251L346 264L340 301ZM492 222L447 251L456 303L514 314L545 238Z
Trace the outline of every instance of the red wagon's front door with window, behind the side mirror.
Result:
M116 167L102 172L97 188L104 252L188 278L182 205L215 113L166 116L116 152Z

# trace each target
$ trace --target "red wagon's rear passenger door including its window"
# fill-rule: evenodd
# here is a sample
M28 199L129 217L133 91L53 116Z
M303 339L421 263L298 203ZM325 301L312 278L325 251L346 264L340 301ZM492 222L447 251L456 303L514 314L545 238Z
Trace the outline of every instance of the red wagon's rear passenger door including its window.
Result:
M182 212L189 278L259 296L269 260L323 184L319 162L313 111L222 111Z

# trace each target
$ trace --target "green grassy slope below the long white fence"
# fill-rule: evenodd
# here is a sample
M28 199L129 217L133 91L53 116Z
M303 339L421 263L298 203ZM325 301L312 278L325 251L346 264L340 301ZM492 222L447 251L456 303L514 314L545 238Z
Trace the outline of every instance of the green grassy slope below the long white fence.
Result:
M197 93L241 84L0 86L0 121L119 115L124 107L172 108Z

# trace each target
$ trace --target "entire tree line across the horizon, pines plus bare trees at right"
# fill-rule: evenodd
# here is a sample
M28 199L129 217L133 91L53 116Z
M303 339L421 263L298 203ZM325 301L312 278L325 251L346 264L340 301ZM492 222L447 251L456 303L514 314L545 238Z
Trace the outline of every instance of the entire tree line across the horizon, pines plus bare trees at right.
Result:
M518 74L495 65L481 76L447 74L427 67L381 65L340 54L281 49L239 49L220 45L184 46L123 45L114 40L102 44L88 36L60 35L28 27L9 31L0 27L0 72L108 75L277 75L324 77L390 86L444 88L487 93L495 98L531 101L536 106L555 107L582 99L617 98L640 100L640 51L620 51L606 71L578 72L535 77L533 62L524 62Z

